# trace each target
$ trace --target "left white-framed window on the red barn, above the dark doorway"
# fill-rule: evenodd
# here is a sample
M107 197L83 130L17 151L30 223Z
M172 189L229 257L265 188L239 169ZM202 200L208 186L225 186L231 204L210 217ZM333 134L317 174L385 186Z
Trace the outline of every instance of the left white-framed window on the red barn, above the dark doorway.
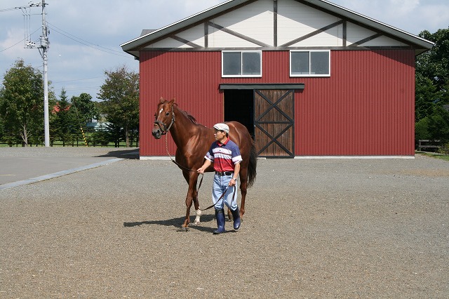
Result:
M262 51L222 51L222 77L262 77Z

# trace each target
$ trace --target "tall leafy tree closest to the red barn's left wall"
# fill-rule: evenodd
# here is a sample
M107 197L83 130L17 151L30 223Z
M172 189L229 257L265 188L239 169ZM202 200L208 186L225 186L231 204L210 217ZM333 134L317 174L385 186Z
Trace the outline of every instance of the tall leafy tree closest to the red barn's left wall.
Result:
M139 74L128 71L125 66L106 71L106 80L98 98L104 100L103 111L114 126L123 128L126 147L129 147L130 131L139 126Z

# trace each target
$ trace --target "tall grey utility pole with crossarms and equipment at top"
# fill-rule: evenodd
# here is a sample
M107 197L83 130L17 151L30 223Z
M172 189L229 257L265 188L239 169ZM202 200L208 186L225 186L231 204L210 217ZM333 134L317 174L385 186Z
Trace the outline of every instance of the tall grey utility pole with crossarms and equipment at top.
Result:
M42 35L40 39L40 45L36 46L34 42L31 41L31 36L26 36L25 33L25 48L37 48L39 53L41 54L43 60L43 131L44 131L44 140L45 146L50 146L50 121L48 118L48 74L47 74L47 65L48 65L48 48L50 43L48 42L48 29L45 20L45 0L42 0L41 3L29 3L28 7L42 6ZM24 17L29 18L29 14L27 13L28 7L17 7L22 9L24 13ZM28 20L29 22L29 20ZM25 32L27 32L27 28L25 28ZM28 32L29 33L29 32Z

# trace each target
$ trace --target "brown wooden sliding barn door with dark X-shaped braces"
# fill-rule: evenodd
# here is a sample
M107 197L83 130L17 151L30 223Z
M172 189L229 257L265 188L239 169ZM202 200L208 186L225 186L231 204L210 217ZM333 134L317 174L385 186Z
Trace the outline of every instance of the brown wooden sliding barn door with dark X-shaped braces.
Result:
M254 91L255 143L259 157L294 157L294 90Z

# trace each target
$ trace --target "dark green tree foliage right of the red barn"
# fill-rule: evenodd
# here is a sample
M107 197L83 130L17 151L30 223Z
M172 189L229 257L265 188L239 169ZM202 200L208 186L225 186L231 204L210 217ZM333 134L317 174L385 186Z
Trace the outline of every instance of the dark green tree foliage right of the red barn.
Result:
M449 28L420 36L435 46L416 59L415 138L449 140Z

